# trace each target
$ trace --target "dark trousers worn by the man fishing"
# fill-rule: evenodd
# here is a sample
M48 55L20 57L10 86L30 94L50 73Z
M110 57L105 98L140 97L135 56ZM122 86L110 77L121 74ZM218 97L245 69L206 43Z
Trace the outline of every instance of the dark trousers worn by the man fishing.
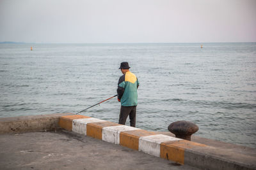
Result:
M118 124L125 125L126 119L129 115L130 125L135 127L136 124L136 107L137 106L121 106Z

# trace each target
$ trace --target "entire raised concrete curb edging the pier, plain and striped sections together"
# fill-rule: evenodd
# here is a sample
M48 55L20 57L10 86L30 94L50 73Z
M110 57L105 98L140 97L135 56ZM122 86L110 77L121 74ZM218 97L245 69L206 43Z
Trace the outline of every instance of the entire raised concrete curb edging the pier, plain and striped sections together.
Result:
M42 121L40 121L40 119L42 119ZM35 125L35 122L38 123ZM33 128L34 126L35 129ZM3 127L3 129L1 127ZM140 151L136 152L138 154L141 154L141 152L143 152L143 154L148 153L149 155L154 155L155 159L161 157L163 160L170 160L170 163L173 165L182 164L184 168L256 169L255 149L229 143L221 143L196 136L193 136L191 141L186 141L184 139L173 138L173 134L170 132L168 132L168 134L166 132L149 132L143 129L127 127L125 125L85 117L83 115L73 115L71 113L0 119L0 139L2 141L4 141L5 138L13 138L13 132L17 134L19 132L58 131L59 129L65 129L69 131L68 133L72 132L74 136L83 136L83 138L90 136L100 139L98 141L103 143L107 141L115 147L126 148L125 150L128 148L131 148L134 152L138 150ZM27 133L22 135L26 134ZM17 136L19 135L20 134ZM8 143L8 139L5 141ZM51 141L54 143L54 139ZM51 141L49 145L51 145ZM2 145L3 144L1 144L1 147ZM63 147L63 153L65 153L64 150L65 147ZM95 149L95 152L99 151ZM8 155L8 153L6 154ZM12 152L9 154L12 155ZM122 157L122 154L119 156L120 159L125 159ZM104 160L101 161L104 162ZM134 163L131 163L131 169L136 169L136 167L132 167L132 165L134 165ZM108 167L108 165L106 166ZM144 169L143 166L141 166L141 168ZM124 169L130 168L125 167ZM148 168L145 167L145 169ZM158 168L155 167L154 169Z

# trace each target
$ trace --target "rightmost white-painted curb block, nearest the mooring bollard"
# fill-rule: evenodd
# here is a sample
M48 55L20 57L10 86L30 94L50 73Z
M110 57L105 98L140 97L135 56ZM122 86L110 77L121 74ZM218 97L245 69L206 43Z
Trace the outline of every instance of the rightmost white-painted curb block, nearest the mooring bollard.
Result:
M166 141L179 141L182 139L173 138L163 134L143 136L139 139L139 151L160 157L160 144Z

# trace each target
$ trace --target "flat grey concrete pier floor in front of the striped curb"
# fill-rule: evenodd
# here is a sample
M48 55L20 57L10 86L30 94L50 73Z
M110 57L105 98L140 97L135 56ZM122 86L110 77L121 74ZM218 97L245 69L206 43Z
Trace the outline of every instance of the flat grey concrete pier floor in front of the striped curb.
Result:
M195 169L74 132L0 135L0 169Z

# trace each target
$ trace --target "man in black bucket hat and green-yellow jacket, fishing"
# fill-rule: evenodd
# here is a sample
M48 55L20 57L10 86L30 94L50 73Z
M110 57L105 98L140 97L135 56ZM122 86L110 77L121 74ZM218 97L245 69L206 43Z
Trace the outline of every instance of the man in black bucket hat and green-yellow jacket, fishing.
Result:
M139 87L138 78L129 71L128 62L120 64L120 70L123 75L120 76L117 88L117 100L121 102L121 109L118 124L125 125L129 115L130 125L135 127L136 124L136 106L138 104L137 89Z

